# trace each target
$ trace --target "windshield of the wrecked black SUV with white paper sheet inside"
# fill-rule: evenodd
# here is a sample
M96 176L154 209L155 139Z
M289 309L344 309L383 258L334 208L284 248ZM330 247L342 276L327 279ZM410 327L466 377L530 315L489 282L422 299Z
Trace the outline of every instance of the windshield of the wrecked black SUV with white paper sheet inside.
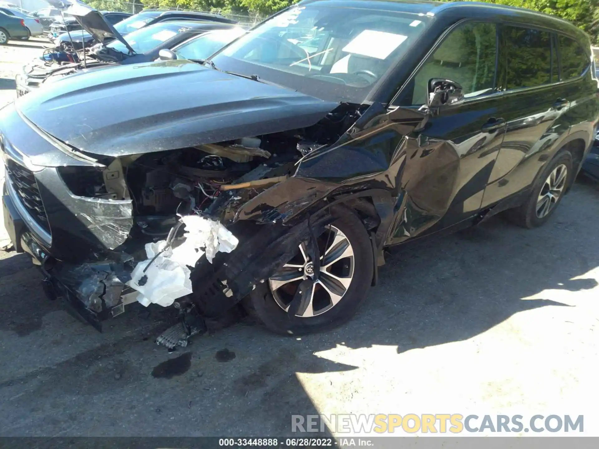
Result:
M320 98L361 103L422 33L423 14L298 5L213 57L223 70L258 75Z

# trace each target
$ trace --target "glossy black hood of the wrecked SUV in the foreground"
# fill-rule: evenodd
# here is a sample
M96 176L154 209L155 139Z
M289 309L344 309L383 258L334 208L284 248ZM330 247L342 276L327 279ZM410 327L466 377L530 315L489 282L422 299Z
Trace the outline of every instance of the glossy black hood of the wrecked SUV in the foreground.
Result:
M73 74L16 102L43 131L104 156L304 128L337 106L188 60Z

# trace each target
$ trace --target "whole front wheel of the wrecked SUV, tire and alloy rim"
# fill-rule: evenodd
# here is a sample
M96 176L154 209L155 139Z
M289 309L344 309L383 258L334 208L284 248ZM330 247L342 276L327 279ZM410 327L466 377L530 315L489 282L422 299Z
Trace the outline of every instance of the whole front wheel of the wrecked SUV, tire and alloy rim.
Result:
M317 277L301 244L288 263L244 299L244 307L273 332L299 335L331 329L349 320L365 298L373 277L370 238L352 211L337 208L334 217L317 238L321 254ZM299 289L304 289L302 299L290 316Z

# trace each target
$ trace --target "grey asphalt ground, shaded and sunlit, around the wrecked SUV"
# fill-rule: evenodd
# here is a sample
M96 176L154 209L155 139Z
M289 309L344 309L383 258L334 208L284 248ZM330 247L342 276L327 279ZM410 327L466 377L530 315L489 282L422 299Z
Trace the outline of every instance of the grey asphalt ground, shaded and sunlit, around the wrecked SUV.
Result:
M36 54L0 47L2 98ZM540 229L496 217L394 251L339 329L282 337L232 315L174 353L153 343L170 311L134 304L96 332L45 298L28 256L0 252L0 435L285 436L292 414L473 413L584 415L599 436L598 217L580 181Z

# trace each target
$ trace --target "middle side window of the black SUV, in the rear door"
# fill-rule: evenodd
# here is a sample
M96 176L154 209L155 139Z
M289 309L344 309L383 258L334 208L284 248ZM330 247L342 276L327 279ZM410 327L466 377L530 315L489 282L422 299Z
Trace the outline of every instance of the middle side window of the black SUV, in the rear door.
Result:
M503 26L503 54L500 66L506 89L534 87L552 81L551 35L549 32L516 26Z

